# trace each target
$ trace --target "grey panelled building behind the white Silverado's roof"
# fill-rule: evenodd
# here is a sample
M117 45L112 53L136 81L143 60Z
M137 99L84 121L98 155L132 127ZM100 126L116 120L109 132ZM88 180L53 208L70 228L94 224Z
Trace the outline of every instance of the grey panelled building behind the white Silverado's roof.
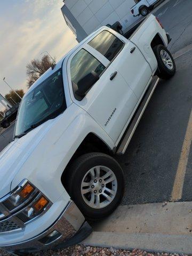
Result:
M64 0L61 8L68 27L81 42L94 30L119 21L123 31L138 17L133 17L131 7L138 0Z

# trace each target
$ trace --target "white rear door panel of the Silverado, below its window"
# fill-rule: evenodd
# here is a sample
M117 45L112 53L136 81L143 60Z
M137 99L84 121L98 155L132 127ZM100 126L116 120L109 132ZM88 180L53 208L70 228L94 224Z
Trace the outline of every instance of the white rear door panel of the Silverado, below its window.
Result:
M111 65L121 73L137 98L140 99L151 78L152 71L137 46L131 42L126 43Z

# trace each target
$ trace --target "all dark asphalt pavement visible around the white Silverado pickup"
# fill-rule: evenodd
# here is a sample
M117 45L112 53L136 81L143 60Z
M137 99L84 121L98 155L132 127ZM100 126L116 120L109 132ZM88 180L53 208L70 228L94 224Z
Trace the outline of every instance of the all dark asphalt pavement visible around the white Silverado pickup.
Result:
M170 0L154 14L172 37L172 53L191 44L191 0ZM160 81L124 156L116 157L125 172L122 204L169 201L178 170L192 106L192 51L177 58L177 73ZM14 125L0 135L0 151L11 142ZM192 201L192 151L180 201Z

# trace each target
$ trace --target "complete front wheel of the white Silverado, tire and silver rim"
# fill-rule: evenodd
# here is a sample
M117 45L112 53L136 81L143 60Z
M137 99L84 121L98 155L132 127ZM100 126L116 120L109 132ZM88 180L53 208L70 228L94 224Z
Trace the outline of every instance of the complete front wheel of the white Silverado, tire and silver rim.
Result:
M122 199L124 174L113 157L102 153L80 156L70 166L68 190L87 219L101 219Z

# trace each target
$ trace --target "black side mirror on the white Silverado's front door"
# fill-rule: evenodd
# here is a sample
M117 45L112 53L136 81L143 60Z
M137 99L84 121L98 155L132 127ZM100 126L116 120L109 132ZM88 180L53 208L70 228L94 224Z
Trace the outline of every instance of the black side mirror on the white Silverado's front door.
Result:
M80 97L83 97L86 92L91 89L93 84L95 84L99 80L99 75L95 71L91 71L91 73L84 76L78 83L77 83L77 90L76 94Z

